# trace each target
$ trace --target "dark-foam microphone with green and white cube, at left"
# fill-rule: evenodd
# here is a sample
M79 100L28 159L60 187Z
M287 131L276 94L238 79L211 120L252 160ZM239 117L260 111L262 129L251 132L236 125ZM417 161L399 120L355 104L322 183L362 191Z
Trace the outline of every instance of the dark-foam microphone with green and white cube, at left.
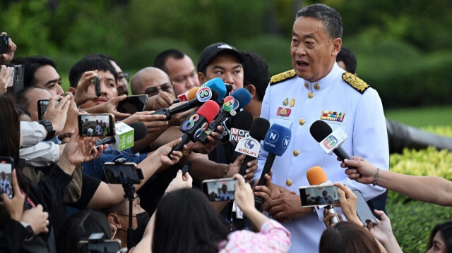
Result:
M141 122L133 122L130 125L118 122L114 124L115 134L114 137L105 137L95 142L95 147L99 147L102 144L112 144L109 147L117 151L122 151L129 147L133 147L133 142L141 140L146 136L148 129ZM133 141L131 139L133 138Z

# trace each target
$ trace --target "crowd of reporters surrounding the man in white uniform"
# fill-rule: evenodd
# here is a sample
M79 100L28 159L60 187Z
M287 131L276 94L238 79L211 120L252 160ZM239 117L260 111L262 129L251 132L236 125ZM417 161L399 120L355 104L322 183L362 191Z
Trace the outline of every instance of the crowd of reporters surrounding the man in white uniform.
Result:
M133 246L133 252L287 252L291 240L297 238L291 238L284 223L264 215L275 189L271 173L263 175L265 185L251 187L257 160L234 154L231 142L219 144L225 135L231 135L230 128L245 128L242 121L247 120L237 113L235 118L239 120L234 123L234 113L227 111L225 115L231 120L224 118L213 125L213 131L201 143L187 139L192 133L185 132L184 135L190 135L185 138L184 131L181 132L187 117L195 112L204 116L197 106L170 117L155 113L182 106L186 103L182 101L184 96L189 96L187 92L213 80L215 75L211 73L224 72L222 82L229 87L225 85L221 89L235 93L236 100L244 92L240 89L246 88L248 92L249 99L240 100L246 102L234 109L249 111L249 121L256 121L270 80L266 63L251 52L240 53L230 45L219 45L206 47L198 60L197 71L191 58L180 51L169 50L157 56L154 66L158 68L143 68L130 82L132 94L148 95L145 110L126 113L117 111L117 104L129 94L130 74L123 73L113 58L104 54L81 58L71 68L69 91L64 92L52 59L14 58L16 44L9 38L8 52L0 58L0 156L13 161L14 195L10 199L6 193L2 194L0 250L78 252L82 242L95 244L119 239L121 248ZM169 69L170 61L175 65L183 62L183 70ZM221 63L227 67L223 68ZM20 90L14 86L7 88L11 78L17 77L17 73L11 75L14 66L23 69ZM100 95L95 94L93 79L96 77L100 80ZM222 92L213 86L210 92ZM222 104L226 96L222 94L214 100ZM177 98L182 102L175 101ZM40 119L38 101L45 99L49 103ZM222 105L221 110L220 114L226 107ZM110 113L117 122L129 125L139 122L144 127L136 128L136 135L144 131L143 137L124 150L97 144L98 137L79 134L78 116L83 113ZM215 111L213 118L217 114ZM250 135L253 135L251 130ZM136 168L141 168L143 177L133 184L131 192L126 192L124 184L108 183L103 168L109 162L136 163ZM191 164L190 170L182 172L187 162ZM342 166L356 168L348 168L345 173L358 183L374 183L423 202L446 206L452 203L447 194L452 186L447 180L379 171L355 156L345 160ZM235 202L251 225L241 224L235 218L231 225L229 203L232 202L209 202L203 192L192 189L200 188L206 179L232 177L237 180ZM343 184L335 185L339 188L345 219L338 214L342 222L333 224L333 214L325 211L326 230L320 238L319 251L401 252L388 216L376 210L381 221L363 224L357 218L355 194ZM438 188L434 194L429 192L433 191L432 185ZM260 209L256 209L255 196L263 199ZM451 228L449 223L436 226L429 249L451 250ZM103 233L104 237L90 239L95 233Z

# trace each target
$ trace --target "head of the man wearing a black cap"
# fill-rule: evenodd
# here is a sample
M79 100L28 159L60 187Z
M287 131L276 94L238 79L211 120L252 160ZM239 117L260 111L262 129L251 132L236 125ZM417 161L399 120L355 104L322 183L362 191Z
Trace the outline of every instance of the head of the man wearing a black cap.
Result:
M218 42L206 47L198 59L198 79L201 84L221 78L232 85L232 92L243 87L242 54L230 44ZM231 92L231 93L232 93Z

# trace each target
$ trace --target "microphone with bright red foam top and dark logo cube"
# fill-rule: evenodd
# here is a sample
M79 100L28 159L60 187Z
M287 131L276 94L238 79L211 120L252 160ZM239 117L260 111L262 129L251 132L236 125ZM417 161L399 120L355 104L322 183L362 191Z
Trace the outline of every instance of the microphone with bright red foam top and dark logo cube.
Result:
M179 144L174 146L169 154L171 154L173 150L182 150L184 144L187 144L190 140L196 142L202 132L207 129L208 124L215 118L218 111L220 111L218 104L215 103L215 101L208 100L198 109L198 111L196 111L196 113L191 113L186 120L179 125L179 130L183 132L181 136L182 142L179 142Z

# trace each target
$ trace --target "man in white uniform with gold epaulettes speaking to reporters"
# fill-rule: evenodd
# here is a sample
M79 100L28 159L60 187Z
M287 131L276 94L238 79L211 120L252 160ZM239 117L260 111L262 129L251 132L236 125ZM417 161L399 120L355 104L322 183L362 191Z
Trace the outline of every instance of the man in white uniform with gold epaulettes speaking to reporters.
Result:
M290 44L294 70L273 76L263 98L261 117L292 130L287 151L273 163L272 200L266 210L292 233L290 252L318 252L325 229L323 210L304 208L299 199L299 186L309 185L306 172L312 166L321 166L328 180L360 190L366 199L384 192L349 180L336 156L323 152L309 132L318 120L333 130L343 128L348 138L342 147L348 154L388 169L388 137L379 95L335 63L342 34L342 18L333 8L313 4L298 11ZM261 149L256 179L266 158Z

